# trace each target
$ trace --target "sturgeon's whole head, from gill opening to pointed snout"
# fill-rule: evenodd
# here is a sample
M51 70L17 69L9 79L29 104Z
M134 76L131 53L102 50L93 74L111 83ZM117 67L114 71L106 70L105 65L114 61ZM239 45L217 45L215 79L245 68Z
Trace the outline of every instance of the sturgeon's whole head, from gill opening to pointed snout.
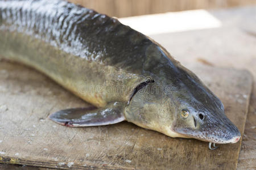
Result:
M238 142L240 131L226 117L221 100L191 71L179 69L168 81L155 77L139 90L126 108L126 120L170 137Z

